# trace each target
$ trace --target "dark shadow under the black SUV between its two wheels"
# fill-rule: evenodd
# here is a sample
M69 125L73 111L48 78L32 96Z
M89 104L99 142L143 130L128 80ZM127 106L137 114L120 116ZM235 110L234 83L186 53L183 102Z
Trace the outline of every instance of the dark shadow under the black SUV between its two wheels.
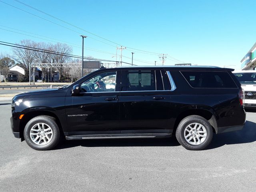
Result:
M131 147L131 146L179 146L175 137L171 138L149 138L149 139L98 139L98 140L65 140L55 150L83 147Z

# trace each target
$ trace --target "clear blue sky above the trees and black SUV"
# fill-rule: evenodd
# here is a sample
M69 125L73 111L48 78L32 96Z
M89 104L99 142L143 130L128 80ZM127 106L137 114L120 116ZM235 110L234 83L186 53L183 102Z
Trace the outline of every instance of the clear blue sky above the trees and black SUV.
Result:
M168 54L165 65L178 63L173 57L185 63L231 65L230 68L239 69L240 60L256 42L256 1L250 0L19 0L92 34L15 0L1 1L71 30L0 2L0 41L65 41L74 46L73 54L81 55L79 34L83 34L88 36L84 56L115 60L115 43L118 43L129 47L123 51L122 61L131 63L131 52L135 52L134 64L137 65L161 63L158 54L145 54L144 51L148 51ZM10 48L0 45L1 52L10 53Z

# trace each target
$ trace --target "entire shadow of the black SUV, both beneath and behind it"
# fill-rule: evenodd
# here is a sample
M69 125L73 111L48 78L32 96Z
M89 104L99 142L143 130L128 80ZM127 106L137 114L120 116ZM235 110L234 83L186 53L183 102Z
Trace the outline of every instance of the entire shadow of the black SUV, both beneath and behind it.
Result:
M256 123L246 121L244 128L240 131L214 134L211 144L205 149L214 149L224 145L242 144L256 141ZM54 150L82 147L149 147L149 146L179 146L175 136L171 138L149 138L149 139L99 139L99 140L64 140Z

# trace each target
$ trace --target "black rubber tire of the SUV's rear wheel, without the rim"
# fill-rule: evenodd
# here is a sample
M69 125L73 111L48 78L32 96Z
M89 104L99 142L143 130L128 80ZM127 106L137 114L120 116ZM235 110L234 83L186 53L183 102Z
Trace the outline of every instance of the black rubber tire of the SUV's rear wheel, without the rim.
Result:
M185 139L184 131L186 127L192 123L200 123L206 129L206 133L207 133L206 139L201 144L193 145L193 144L190 144ZM181 120L176 130L176 138L178 142L188 150L202 150L206 148L212 142L212 135L213 135L213 131L210 123L205 118L198 115L187 116L186 118Z

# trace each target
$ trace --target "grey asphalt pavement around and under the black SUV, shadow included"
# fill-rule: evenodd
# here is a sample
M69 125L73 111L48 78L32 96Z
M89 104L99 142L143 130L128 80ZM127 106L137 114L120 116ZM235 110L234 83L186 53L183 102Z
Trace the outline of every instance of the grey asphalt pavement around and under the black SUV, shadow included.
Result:
M256 111L244 130L214 135L207 150L174 138L66 141L36 151L14 138L0 102L0 191L255 191Z

